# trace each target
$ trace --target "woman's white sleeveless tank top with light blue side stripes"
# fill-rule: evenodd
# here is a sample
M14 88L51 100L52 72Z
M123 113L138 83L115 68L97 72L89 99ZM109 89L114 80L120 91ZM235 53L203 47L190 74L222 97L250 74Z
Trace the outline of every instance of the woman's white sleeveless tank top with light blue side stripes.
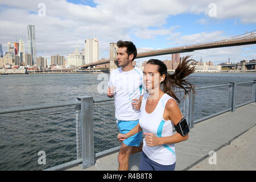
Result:
M174 125L171 120L165 121L163 118L164 108L169 99L174 99L164 93L160 98L155 110L148 114L145 110L148 93L142 98L141 115L139 117L139 126L144 133L152 133L156 137L169 137L172 135ZM160 146L149 147L143 140L143 152L148 158L162 165L171 165L176 162L176 154L174 144L163 144Z

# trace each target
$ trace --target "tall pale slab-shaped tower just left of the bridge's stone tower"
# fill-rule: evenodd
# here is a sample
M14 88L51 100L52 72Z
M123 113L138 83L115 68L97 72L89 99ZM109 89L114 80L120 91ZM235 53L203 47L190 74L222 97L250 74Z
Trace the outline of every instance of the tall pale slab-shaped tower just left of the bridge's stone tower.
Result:
M98 61L98 39L85 40L85 64Z

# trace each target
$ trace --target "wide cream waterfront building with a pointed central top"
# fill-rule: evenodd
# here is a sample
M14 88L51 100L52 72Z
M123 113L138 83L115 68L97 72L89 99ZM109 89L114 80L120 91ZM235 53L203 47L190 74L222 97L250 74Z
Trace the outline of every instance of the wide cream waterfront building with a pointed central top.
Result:
M75 52L72 52L67 56L67 68L79 67L83 64L82 60L84 59L84 55L79 52L78 46L76 46Z

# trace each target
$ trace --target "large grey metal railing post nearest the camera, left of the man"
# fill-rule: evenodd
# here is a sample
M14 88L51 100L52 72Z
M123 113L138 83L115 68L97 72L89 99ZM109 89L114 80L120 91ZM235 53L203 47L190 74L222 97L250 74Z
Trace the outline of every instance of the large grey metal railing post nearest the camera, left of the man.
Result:
M78 99L81 100L81 168L84 169L94 165L93 97L80 97Z

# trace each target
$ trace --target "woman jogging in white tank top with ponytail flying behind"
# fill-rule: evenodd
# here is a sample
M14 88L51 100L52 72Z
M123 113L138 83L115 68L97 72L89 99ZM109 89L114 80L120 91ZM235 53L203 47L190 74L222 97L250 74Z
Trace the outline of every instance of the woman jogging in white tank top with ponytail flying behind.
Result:
M195 67L189 67L189 62L194 60L188 58L189 56L183 57L174 74L167 73L166 64L157 59L148 60L144 67L143 82L147 93L140 97L142 104L139 123L129 133L118 134L121 142L143 130L145 137L139 163L140 171L174 170L174 143L188 139L188 134L183 137L180 133L172 133L174 125L183 118L178 106L180 101L175 96L174 89L184 89L185 94L188 94L189 89L195 92L193 85L184 80L195 71ZM160 85L163 85L163 90Z

